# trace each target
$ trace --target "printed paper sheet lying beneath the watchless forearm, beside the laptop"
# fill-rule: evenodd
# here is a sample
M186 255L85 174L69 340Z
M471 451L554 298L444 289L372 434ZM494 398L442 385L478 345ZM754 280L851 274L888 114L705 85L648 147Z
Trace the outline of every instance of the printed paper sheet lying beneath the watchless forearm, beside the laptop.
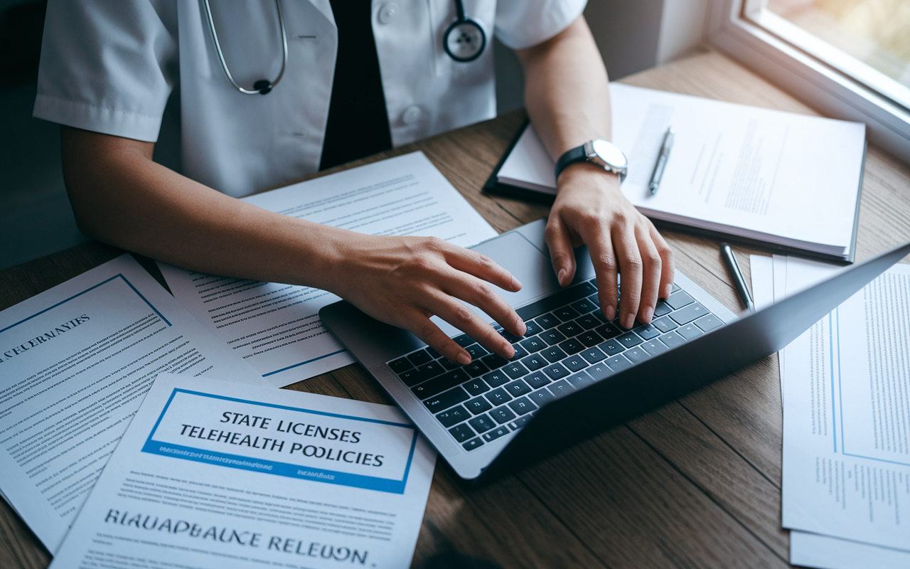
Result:
M462 247L497 235L422 152L244 200L370 235L434 236ZM354 361L319 320L319 309L339 300L330 292L159 266L177 300L274 385Z

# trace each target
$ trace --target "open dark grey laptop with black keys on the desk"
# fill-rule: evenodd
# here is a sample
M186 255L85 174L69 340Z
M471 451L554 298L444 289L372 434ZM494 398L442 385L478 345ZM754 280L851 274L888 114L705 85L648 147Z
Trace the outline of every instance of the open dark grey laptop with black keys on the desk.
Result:
M523 289L498 290L528 325L506 361L460 330L434 322L470 352L462 366L406 330L347 301L324 307L329 330L376 378L421 432L472 485L537 462L780 351L825 314L910 253L910 243L785 300L740 316L677 270L650 324L623 330L597 300L591 259L559 286L541 219L471 248L511 271ZM622 287L620 289L622 295ZM636 322L636 324L638 324Z

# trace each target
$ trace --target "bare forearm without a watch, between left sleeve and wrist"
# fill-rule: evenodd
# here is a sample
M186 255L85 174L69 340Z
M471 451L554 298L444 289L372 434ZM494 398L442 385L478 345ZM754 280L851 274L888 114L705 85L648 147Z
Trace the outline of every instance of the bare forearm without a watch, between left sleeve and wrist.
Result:
M150 143L68 127L62 141L86 235L200 272L329 288L341 229L207 188L153 162Z

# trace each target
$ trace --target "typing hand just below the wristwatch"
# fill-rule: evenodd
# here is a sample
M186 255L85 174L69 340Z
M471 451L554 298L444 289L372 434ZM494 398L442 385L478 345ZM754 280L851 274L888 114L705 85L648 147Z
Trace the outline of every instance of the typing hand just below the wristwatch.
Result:
M575 276L572 249L582 243L588 246L601 310L609 320L616 316L616 277L622 275L623 328L632 328L636 317L650 322L658 297L670 296L672 251L651 221L622 196L615 174L589 163L565 168L545 235L563 287Z

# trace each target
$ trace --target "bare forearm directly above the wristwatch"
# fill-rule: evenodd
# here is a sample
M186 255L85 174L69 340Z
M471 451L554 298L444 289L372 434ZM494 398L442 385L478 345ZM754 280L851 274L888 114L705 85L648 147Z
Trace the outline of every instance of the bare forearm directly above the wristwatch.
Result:
M607 72L584 16L558 36L517 53L525 106L554 160L593 138L610 139Z

